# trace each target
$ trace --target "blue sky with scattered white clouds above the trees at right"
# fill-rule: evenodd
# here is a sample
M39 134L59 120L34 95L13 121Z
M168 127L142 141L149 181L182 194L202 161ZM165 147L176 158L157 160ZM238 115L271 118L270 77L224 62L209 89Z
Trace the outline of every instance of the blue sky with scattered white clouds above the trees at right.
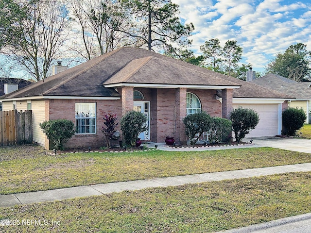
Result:
M243 48L242 63L262 71L278 52L303 43L311 50L311 2L309 0L172 0L179 17L192 22L192 50L211 38L222 46L237 40Z

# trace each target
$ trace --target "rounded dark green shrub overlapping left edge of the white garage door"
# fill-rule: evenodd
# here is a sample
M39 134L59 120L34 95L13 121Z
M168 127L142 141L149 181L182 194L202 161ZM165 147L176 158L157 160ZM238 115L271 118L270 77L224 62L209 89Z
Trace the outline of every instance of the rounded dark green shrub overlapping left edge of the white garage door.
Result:
M240 142L246 134L256 128L259 122L259 114L253 109L239 106L239 108L232 110L230 120L232 121L235 139Z

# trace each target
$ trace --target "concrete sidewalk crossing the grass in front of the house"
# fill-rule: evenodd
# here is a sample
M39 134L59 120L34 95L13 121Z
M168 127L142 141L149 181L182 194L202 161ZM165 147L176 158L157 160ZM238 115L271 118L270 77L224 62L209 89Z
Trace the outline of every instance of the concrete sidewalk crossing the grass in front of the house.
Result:
M222 181L228 179L248 178L297 171L311 171L311 163L213 172L130 182L104 183L47 191L1 195L0 207L25 205L44 201L65 200L77 197L98 196L108 193L121 192L124 190L140 190L151 187L178 186L187 183Z

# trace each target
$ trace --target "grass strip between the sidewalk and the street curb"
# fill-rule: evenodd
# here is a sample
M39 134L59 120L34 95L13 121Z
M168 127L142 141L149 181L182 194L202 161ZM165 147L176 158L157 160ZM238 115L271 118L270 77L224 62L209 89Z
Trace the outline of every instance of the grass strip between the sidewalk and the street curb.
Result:
M0 232L216 232L309 213L310 190L311 172L296 172L124 191L0 208L0 219L19 222Z

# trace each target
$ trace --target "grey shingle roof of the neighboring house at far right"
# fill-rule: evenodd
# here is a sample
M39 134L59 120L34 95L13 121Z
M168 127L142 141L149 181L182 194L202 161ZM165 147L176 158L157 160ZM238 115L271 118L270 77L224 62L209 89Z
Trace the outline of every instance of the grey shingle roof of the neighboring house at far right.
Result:
M287 79L277 74L267 74L252 80L251 83L256 83L260 86L291 95L297 100L311 100L310 82L297 83L294 80Z

